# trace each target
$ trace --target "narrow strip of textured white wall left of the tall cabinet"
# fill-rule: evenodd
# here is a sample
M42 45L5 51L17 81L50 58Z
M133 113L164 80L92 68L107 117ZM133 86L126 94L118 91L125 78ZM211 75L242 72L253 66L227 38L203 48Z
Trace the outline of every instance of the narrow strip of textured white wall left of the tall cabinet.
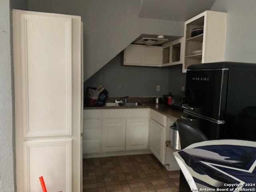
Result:
M0 23L0 190L13 192L14 126L9 0L1 0Z

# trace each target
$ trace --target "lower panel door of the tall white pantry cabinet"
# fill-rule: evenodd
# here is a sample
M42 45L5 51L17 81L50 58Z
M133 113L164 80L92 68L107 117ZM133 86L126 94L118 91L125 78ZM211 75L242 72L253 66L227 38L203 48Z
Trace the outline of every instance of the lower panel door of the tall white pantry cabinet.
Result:
M72 183L68 182L72 178L71 139L27 141L24 142L24 153L24 176L28 178L25 188L41 191L38 178L43 176L50 191L72 191ZM45 160L46 157L51 163Z

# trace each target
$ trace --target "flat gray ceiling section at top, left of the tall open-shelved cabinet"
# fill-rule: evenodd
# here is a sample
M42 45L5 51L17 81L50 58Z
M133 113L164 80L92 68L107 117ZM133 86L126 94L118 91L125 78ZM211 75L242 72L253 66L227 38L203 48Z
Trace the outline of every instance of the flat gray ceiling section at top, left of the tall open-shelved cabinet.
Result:
M205 10L215 0L142 0L139 17L186 21Z

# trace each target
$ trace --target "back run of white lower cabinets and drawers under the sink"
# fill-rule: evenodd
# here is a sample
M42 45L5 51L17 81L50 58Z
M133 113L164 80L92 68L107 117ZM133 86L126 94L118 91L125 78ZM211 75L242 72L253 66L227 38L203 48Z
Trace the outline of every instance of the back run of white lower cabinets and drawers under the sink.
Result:
M148 150L149 114L149 108L84 110L84 156Z

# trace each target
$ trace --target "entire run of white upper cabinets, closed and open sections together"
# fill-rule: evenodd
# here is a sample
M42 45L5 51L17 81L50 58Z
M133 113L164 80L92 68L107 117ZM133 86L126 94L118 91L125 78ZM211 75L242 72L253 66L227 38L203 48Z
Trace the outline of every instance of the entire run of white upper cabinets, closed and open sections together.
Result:
M224 61L226 23L227 13L202 12L185 22L184 37L162 46L130 44L124 50L124 65L164 67L182 64L182 72L186 72L192 64ZM192 35L192 30L198 28L202 28L202 34Z

